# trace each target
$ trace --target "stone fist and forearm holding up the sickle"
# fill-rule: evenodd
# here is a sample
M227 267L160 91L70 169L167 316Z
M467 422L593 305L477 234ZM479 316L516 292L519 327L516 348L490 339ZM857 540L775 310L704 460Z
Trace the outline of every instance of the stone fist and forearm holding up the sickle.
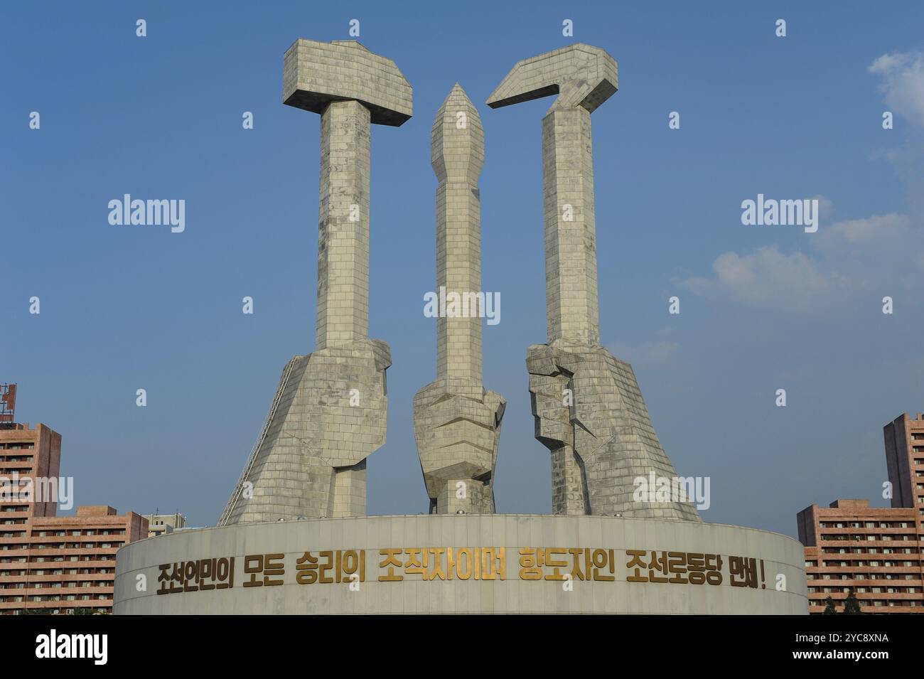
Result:
M577 43L518 62L487 101L557 94L542 118L549 341L527 352L535 435L551 451L555 514L700 521L686 501L634 500L634 479L676 473L632 367L600 345L590 114L616 88L614 58Z

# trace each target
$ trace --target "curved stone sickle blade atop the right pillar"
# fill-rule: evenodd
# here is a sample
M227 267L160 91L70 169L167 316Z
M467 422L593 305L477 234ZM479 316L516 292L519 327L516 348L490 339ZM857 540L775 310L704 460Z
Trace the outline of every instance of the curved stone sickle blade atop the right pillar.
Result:
M552 109L583 106L593 113L617 86L616 60L599 47L577 42L517 62L487 104L500 108L557 94Z

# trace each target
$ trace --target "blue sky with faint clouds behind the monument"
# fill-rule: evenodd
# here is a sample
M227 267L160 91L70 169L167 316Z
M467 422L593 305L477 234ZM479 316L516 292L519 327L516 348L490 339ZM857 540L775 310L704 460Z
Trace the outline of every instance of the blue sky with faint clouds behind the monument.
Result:
M358 18L415 114L372 134L371 336L393 366L371 514L427 511L411 399L435 376L430 127L456 81L485 127L482 285L503 299L483 333L485 384L508 402L498 510L551 510L525 368L546 341L551 101L483 102L517 60L571 42L619 63L592 117L602 342L634 365L678 472L711 478L704 518L794 535L808 504L883 505L881 427L924 411L924 6L742 5L6 4L0 382L19 383L18 420L62 433L77 503L213 524L280 371L314 348L320 123L280 102L282 56ZM108 224L125 193L186 200L185 232ZM818 233L743 225L759 193L818 197Z

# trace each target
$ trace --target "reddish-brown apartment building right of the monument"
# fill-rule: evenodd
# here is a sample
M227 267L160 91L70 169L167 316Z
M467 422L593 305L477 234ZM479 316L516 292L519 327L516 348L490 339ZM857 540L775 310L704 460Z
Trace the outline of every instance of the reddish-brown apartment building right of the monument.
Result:
M924 415L895 418L883 436L891 507L836 500L797 515L810 613L828 597L840 611L849 588L862 612L924 613Z

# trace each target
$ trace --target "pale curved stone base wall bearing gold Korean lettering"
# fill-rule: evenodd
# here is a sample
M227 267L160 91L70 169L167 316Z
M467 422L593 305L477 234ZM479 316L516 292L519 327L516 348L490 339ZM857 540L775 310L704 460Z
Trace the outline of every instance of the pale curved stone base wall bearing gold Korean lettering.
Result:
M505 548L505 579L379 581L380 550ZM614 551L614 580L524 580L520 549ZM365 581L298 584L297 561L305 552L365 550ZM695 585L630 582L628 550L721 556L722 583ZM280 586L243 587L246 555L280 554ZM235 558L233 588L157 594L159 564ZM489 557L492 555L489 554ZM495 555L496 556L496 555ZM761 588L732 587L730 556L763 560ZM408 558L407 553L399 557ZM489 559L490 561L490 559ZM691 560L692 561L692 560ZM495 562L496 563L496 562ZM307 564L307 562L306 562ZM716 562L713 562L713 565ZM570 566L562 572L569 570ZM553 574L546 567L546 574ZM603 569L605 574L605 569ZM648 576L649 571L640 571ZM776 589L777 576L785 590ZM139 591L139 576L146 590ZM328 572L327 576L333 576ZM195 583L195 579L190 579ZM248 524L180 531L140 540L116 557L116 614L138 613L808 613L802 545L768 531L687 521L613 516L405 515Z

